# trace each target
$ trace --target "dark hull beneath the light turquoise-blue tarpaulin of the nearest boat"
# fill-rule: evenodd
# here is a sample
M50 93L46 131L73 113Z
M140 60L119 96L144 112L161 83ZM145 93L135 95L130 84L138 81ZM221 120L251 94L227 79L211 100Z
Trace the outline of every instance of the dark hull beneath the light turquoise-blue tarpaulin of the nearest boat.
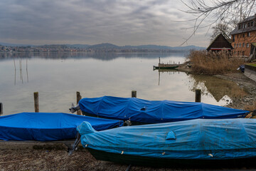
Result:
M156 157L142 157L137 155L122 155L113 152L105 152L87 148L97 160L117 162L125 165L142 165L153 167L255 167L255 157L229 159L229 160L188 160L188 159L167 159Z

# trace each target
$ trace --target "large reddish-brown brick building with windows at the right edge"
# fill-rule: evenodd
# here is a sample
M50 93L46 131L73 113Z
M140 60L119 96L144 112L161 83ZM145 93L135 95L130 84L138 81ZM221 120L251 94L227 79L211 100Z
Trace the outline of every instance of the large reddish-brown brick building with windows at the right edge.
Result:
M234 56L255 56L256 14L240 22L230 35Z

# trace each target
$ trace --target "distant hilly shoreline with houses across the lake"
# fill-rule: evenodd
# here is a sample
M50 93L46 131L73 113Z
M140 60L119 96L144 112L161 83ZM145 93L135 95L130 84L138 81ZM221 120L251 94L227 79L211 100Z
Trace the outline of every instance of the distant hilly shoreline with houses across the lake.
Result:
M97 45L43 45L43 46L8 46L1 45L0 52L156 52L156 53L182 53L191 50L204 50L199 46L116 46L111 43L102 43Z

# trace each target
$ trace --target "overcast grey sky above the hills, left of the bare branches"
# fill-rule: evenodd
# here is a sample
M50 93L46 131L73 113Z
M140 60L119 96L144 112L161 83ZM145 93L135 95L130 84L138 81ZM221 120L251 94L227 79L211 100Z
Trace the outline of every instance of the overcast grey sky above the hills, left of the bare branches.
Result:
M193 30L179 0L1 0L0 42L179 46ZM208 28L186 45L208 46Z

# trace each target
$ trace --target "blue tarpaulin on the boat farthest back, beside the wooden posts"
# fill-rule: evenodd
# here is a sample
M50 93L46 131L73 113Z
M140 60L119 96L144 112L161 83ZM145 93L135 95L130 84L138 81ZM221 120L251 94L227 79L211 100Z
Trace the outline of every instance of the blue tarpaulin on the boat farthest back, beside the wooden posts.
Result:
M206 103L139 98L82 98L80 109L102 118L131 120L140 123L166 123L196 118L244 118L247 110L225 108Z

